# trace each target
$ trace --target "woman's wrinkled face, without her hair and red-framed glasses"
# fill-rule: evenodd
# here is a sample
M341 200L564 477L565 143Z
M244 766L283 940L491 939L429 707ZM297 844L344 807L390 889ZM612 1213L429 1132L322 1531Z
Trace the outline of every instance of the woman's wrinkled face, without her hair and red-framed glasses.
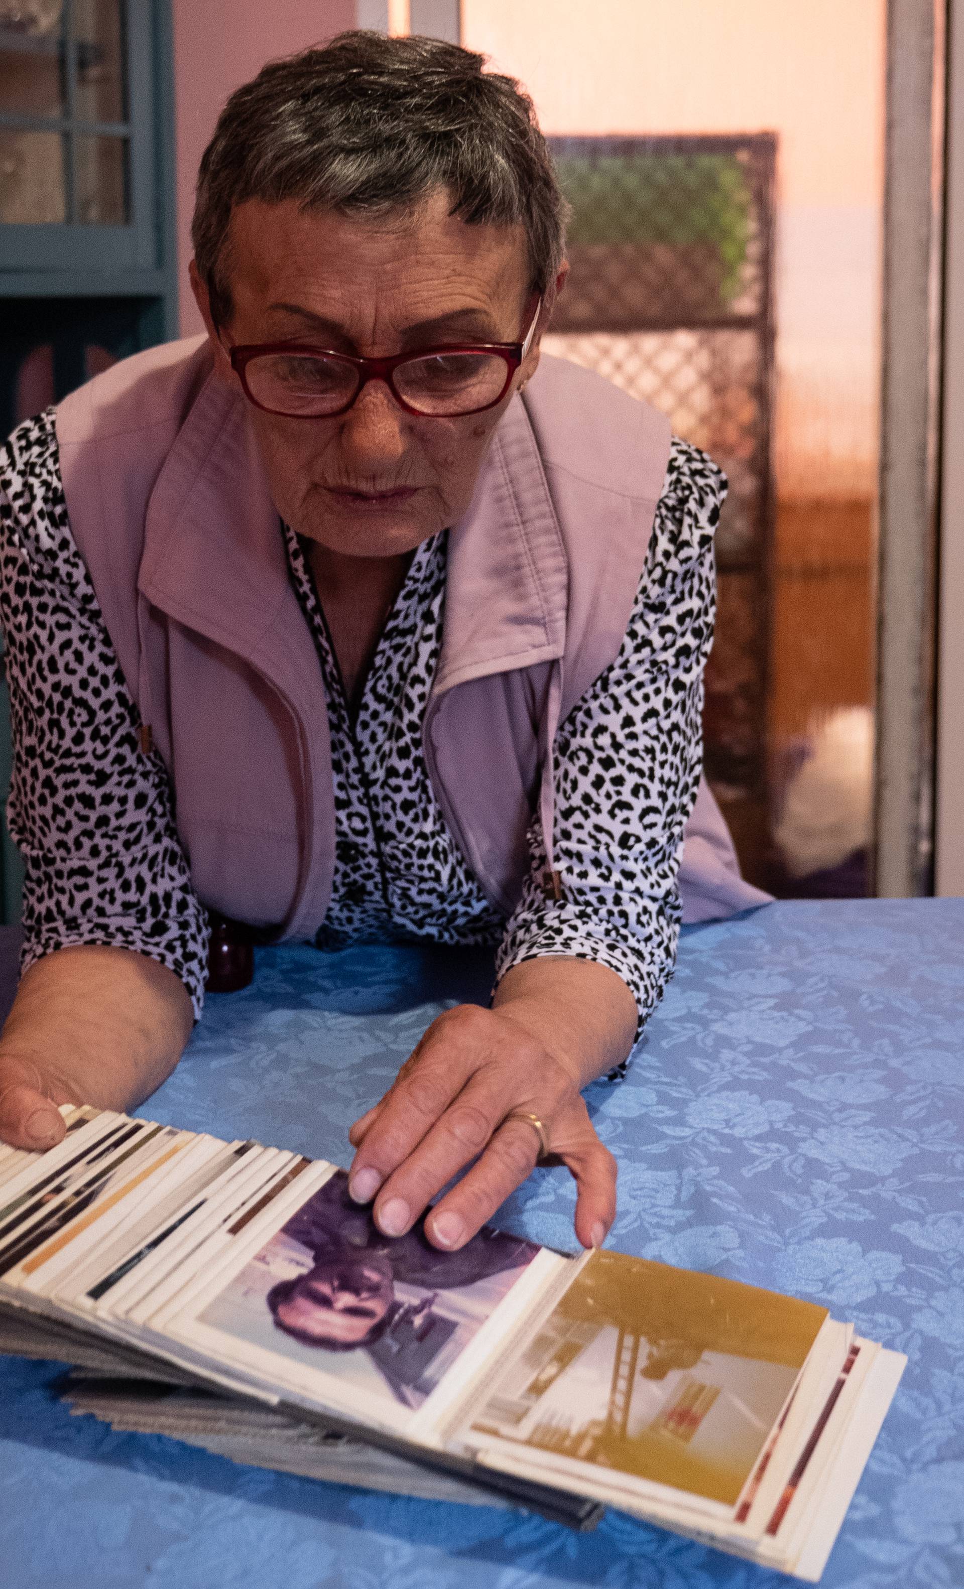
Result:
M439 192L414 216L383 219L302 213L294 202L239 205L226 251L234 315L221 343L291 340L387 358L522 342L534 311L522 227L466 226L449 203ZM196 292L208 318L197 283ZM331 551L412 551L468 508L492 432L536 364L538 337L501 404L457 419L406 413L383 381L369 381L336 418L291 419L251 405L278 513ZM226 354L218 370L237 383Z

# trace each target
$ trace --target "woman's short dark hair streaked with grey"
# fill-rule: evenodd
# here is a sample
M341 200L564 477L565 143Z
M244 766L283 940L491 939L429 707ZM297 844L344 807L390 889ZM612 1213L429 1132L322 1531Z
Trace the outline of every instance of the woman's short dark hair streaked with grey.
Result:
M350 32L237 89L200 160L191 229L215 321L232 313L224 243L248 199L377 216L445 189L466 224L525 229L531 289L547 292L566 200L528 94L484 64L434 38Z

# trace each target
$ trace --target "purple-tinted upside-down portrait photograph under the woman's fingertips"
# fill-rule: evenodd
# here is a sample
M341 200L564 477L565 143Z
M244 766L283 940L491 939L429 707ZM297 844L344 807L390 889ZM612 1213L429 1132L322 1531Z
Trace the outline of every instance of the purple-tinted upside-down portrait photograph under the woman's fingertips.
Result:
M539 1251L482 1228L445 1254L422 1222L383 1236L339 1170L200 1322L417 1408Z

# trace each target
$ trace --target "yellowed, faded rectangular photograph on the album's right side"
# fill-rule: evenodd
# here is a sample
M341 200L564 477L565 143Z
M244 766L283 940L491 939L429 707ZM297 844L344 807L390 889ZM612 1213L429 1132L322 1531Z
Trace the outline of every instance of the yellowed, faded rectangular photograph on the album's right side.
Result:
M735 1505L826 1316L600 1252L474 1429Z

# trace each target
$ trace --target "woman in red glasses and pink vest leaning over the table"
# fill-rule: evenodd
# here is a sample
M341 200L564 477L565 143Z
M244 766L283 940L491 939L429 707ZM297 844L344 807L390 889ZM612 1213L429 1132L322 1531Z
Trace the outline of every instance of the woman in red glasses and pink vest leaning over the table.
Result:
M581 1088L673 966L724 483L539 365L563 215L530 102L479 56L347 33L275 62L200 167L207 337L0 454L10 1142L173 1069L208 910L321 950L492 944L492 1007L441 1015L355 1123L352 1197L398 1236L468 1165L426 1224L455 1249L549 1154L579 1239L606 1235ZM760 896L700 809L690 914L724 915Z

